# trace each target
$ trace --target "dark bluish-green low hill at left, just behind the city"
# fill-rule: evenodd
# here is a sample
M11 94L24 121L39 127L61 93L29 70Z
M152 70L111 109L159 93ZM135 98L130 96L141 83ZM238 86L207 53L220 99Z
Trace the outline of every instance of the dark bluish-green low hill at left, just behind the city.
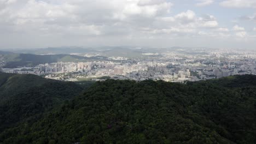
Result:
M82 57L75 55L33 55L25 53L11 53L4 55L2 61L7 62L4 68L33 67L38 64L56 62L88 62L106 60L107 57Z

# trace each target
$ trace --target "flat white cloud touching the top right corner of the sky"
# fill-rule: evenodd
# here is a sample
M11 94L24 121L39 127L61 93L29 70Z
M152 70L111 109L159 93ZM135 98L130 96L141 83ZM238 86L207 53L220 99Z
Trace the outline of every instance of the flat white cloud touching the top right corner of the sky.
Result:
M256 8L256 0L226 0L220 5L226 8Z

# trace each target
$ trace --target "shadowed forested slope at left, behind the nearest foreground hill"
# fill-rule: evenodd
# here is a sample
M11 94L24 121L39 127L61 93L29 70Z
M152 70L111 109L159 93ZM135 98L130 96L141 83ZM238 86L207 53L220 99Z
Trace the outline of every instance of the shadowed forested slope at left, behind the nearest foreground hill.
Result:
M72 82L0 73L0 132L27 118L37 118L82 91L82 86Z

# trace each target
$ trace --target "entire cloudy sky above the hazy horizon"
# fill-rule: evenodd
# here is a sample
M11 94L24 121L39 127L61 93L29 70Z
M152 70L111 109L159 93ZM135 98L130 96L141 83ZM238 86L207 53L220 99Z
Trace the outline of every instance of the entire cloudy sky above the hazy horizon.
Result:
M0 0L0 49L256 49L256 0Z

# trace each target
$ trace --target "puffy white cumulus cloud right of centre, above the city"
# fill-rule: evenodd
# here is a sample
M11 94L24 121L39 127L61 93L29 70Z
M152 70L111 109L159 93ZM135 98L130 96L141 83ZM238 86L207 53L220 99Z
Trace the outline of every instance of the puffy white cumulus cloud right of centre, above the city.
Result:
M187 10L170 17L159 17L155 27L144 28L143 31L149 34L174 35L175 37L187 37L188 35L206 35L214 37L218 35L216 29L219 23L213 15L197 17L194 11ZM206 31L201 31L205 29ZM213 31L213 32L211 32ZM223 35L223 34L222 34Z

